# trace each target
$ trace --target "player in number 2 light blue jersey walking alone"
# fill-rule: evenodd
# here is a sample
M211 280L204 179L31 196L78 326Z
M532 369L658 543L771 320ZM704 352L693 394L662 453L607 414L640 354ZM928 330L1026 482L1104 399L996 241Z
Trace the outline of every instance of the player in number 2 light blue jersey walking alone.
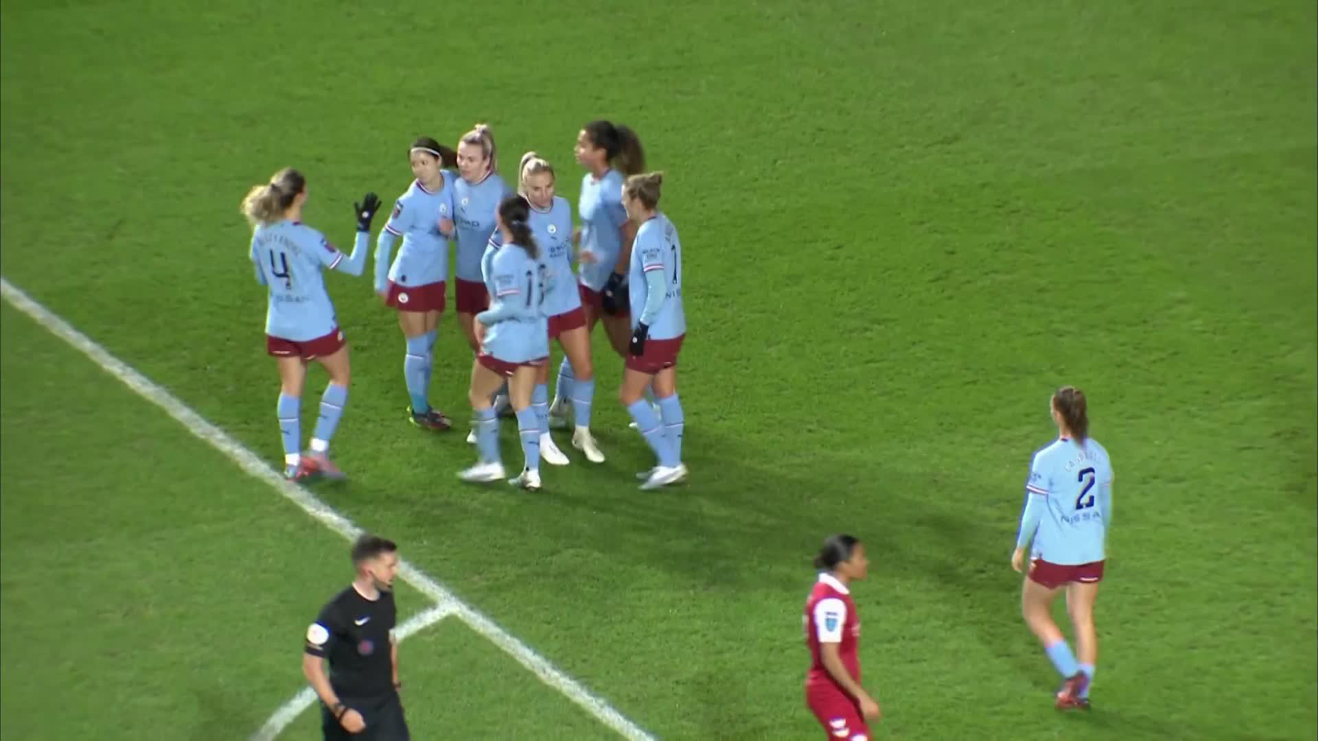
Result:
M1033 539L1021 613L1064 678L1057 708L1089 709L1089 686L1098 659L1094 599L1103 580L1103 546L1112 521L1112 464L1103 446L1089 436L1083 392L1062 386L1049 401L1049 410L1058 435L1031 461L1011 567L1021 571L1025 547ZM1053 599L1062 588L1075 628L1078 662L1052 617Z

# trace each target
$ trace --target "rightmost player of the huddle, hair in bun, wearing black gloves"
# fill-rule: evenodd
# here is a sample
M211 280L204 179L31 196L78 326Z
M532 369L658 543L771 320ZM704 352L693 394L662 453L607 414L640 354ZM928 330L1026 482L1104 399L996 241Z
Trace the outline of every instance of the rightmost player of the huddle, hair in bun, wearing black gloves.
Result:
M641 475L642 489L656 489L687 476L681 463L685 419L677 400L677 353L687 335L681 241L677 227L658 210L662 186L663 173L648 173L631 175L622 187L622 206L637 224L637 239L627 276L631 340L619 398L659 458L656 467ZM658 414L643 398L651 386Z

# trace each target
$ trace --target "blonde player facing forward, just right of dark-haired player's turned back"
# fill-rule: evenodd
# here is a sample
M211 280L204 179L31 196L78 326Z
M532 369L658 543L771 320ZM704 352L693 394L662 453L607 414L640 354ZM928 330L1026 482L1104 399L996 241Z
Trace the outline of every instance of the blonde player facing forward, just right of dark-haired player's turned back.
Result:
M572 273L572 206L565 198L554 194L554 167L535 152L522 156L517 171L518 193L531 204L531 232L542 249L540 261L546 268L543 311L548 316L550 339L559 340L564 363L572 368L569 398L576 418L572 447L585 454L590 463L604 463L604 454L590 435L594 370L590 365L590 335L585 328L585 311ZM567 465L567 456L550 436L548 382L550 364L546 363L540 367L531 397L540 425L540 456L554 465Z

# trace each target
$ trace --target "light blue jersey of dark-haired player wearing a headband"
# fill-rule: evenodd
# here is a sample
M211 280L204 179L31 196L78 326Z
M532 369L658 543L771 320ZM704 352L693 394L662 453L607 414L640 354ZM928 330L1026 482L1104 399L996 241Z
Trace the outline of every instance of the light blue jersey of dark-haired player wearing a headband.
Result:
M444 173L439 191L426 190L413 181L394 203L385 222L385 231L403 237L402 247L389 268L389 280L401 286L424 286L448 280L448 237L440 233L440 219L453 218L453 187Z

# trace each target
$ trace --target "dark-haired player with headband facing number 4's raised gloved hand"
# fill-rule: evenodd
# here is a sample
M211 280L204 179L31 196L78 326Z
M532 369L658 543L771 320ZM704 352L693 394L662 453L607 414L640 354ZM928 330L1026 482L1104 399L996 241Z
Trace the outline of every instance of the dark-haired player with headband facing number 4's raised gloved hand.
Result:
M448 430L452 425L430 406L430 377L448 286L448 239L453 235L455 183L444 166L456 163L456 157L428 136L413 142L407 158L415 179L398 198L376 245L376 293L398 310L398 326L407 343L407 418L423 430ZM403 244L390 266L389 252L399 236Z

